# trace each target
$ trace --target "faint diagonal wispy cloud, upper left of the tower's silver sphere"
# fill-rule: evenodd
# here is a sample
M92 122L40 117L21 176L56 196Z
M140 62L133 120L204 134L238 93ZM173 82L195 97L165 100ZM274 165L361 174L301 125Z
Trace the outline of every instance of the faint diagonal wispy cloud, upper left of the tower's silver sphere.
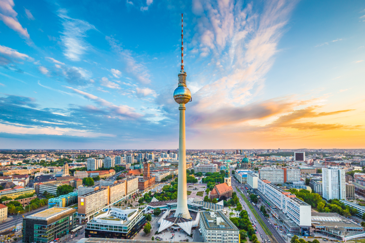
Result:
M130 50L124 50L118 40L113 37L106 36L105 39L109 42L114 51L120 55L122 61L126 64L125 71L131 74L138 82L143 84L150 83L149 70L142 63L138 63Z

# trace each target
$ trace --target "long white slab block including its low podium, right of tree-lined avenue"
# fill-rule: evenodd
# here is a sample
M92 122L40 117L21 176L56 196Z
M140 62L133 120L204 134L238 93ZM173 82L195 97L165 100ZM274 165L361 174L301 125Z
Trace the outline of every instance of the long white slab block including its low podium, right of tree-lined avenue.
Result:
M258 179L257 189L270 204L272 215L289 232L307 235L311 227L311 205L297 199L295 195L284 191L267 180Z

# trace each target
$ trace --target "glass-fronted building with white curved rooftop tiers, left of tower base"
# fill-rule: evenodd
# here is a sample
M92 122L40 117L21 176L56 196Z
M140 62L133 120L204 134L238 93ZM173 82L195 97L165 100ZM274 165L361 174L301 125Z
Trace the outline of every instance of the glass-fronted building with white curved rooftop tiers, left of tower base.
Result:
M87 223L85 238L131 239L145 223L143 210L138 207L112 207Z

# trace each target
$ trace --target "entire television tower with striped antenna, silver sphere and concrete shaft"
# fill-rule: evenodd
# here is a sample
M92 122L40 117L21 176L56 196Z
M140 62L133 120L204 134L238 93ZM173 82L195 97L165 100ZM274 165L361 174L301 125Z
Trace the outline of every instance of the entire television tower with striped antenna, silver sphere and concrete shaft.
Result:
M184 217L190 219L188 209L187 180L186 180L186 150L185 150L185 104L191 101L191 92L186 86L186 72L184 71L184 45L183 45L183 14L181 14L181 70L177 75L179 82L174 91L174 100L179 104L180 121L179 121L179 176L177 183L177 206L175 217Z

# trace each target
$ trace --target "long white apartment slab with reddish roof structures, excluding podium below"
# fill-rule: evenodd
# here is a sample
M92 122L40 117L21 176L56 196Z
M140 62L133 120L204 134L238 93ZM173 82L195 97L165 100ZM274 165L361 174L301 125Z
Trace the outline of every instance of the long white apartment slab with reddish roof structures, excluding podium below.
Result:
M272 201L289 219L299 227L311 227L311 205L304 203L290 192L284 191L268 181L257 181L258 191Z

